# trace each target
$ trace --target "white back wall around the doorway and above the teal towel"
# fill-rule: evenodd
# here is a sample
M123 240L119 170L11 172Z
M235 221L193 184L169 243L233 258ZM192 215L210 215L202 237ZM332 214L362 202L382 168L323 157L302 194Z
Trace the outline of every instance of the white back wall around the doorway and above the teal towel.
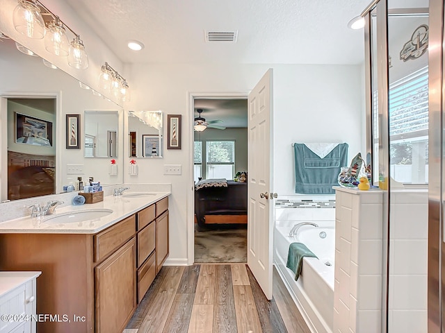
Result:
M124 175L126 183L172 183L169 263L185 263L188 255L187 204L193 200L193 189L188 187L193 177L193 110L188 110L189 94L247 95L270 67L274 69L274 191L279 195L293 194L291 142L348 142L348 159L359 151L363 110L361 67L188 64L131 67L134 90L129 110L182 114L181 150L166 150L164 144L163 159L138 159L139 175ZM165 124L166 121L164 128ZM163 164L181 164L182 175L163 175Z

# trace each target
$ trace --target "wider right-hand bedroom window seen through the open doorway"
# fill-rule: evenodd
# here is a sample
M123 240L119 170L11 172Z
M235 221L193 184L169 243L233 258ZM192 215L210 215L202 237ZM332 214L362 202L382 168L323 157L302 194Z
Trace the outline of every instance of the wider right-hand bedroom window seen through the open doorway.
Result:
M235 142L206 142L206 178L234 178Z

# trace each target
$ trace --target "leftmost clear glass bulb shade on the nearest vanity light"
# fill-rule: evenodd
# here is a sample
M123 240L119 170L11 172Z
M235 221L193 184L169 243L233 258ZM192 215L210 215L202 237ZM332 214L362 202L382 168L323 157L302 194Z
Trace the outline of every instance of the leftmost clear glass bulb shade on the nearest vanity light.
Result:
M40 8L31 1L19 0L13 12L15 30L29 38L41 40L45 34Z

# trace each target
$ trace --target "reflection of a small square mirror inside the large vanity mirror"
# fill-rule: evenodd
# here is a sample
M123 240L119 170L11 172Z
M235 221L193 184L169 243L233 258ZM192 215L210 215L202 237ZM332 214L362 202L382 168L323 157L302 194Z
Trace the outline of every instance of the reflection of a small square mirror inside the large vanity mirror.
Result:
M118 157L118 111L85 111L85 157Z

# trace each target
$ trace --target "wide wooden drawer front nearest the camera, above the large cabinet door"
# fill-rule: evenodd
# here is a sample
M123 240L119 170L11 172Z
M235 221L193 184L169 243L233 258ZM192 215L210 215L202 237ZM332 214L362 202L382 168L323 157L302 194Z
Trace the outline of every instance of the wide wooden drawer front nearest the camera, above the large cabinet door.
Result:
M131 215L112 227L95 234L95 262L100 262L113 250L128 241L136 232L136 216Z

